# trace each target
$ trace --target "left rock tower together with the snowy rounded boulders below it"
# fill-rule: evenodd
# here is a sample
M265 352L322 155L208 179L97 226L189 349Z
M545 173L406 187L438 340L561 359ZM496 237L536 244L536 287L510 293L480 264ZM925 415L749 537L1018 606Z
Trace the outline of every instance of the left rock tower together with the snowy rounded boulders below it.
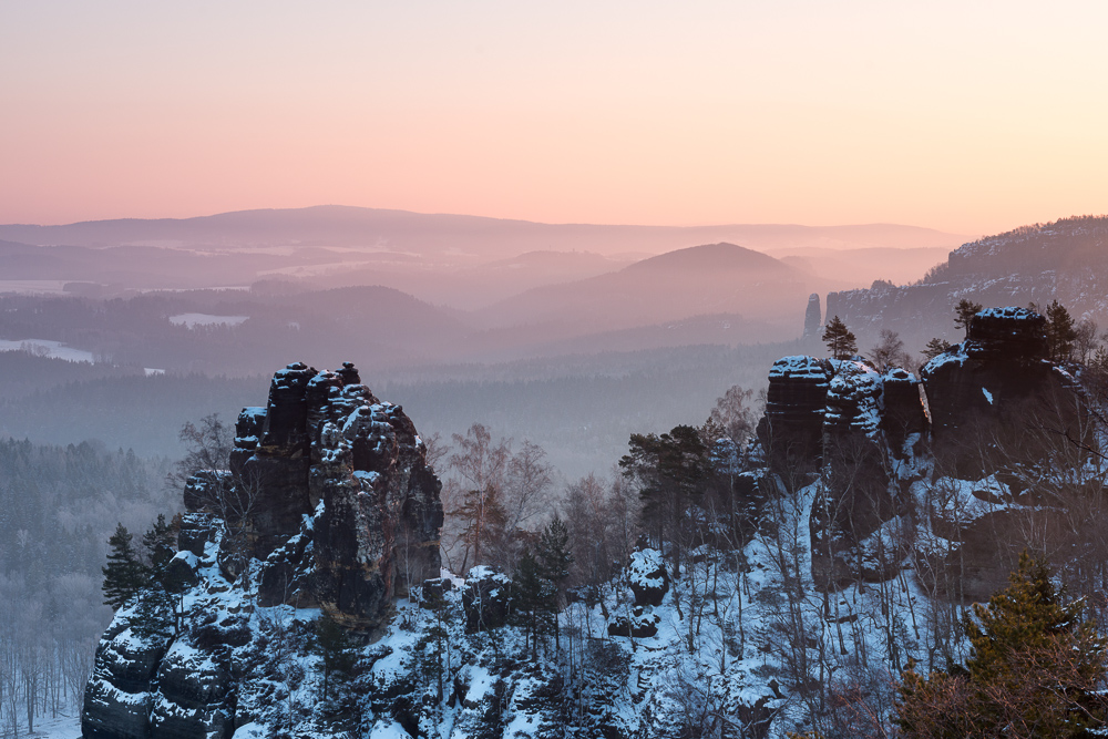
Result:
M425 454L402 409L378 401L352 365L277 372L266 408L239 415L230 470L185 486L170 563L185 588L178 626L152 635L131 606L101 640L85 739L229 737L248 720L236 716L245 686L232 654L255 638L244 613L256 605L318 607L378 633L409 581L440 572L441 484Z

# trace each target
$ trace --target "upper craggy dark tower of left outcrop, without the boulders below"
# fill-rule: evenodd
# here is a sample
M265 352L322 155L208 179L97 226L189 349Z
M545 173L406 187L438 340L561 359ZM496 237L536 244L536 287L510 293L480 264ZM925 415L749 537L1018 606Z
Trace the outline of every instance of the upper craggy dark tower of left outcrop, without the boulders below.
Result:
M197 474L185 506L245 528L265 563L263 604L319 605L372 630L404 575L439 574L441 484L424 456L403 410L378 401L352 365L297 362L274 374L265 409L239 414L230 471Z

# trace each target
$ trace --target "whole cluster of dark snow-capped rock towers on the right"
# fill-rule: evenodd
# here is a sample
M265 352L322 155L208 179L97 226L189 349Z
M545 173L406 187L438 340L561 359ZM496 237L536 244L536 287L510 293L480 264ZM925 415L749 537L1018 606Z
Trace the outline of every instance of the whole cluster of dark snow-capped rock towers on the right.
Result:
M1045 319L991 308L971 320L964 343L927 363L922 382L863 361L779 360L759 441L780 489L815 483L817 585L891 577L915 541L925 571L960 573L962 593L977 597L1010 568L998 536L1015 534L1033 509L1049 520L1048 506L1024 492L1049 442L1027 429L1046 425L1043 418L1083 428L1080 398L1047 360ZM915 533L921 521L926 535Z

